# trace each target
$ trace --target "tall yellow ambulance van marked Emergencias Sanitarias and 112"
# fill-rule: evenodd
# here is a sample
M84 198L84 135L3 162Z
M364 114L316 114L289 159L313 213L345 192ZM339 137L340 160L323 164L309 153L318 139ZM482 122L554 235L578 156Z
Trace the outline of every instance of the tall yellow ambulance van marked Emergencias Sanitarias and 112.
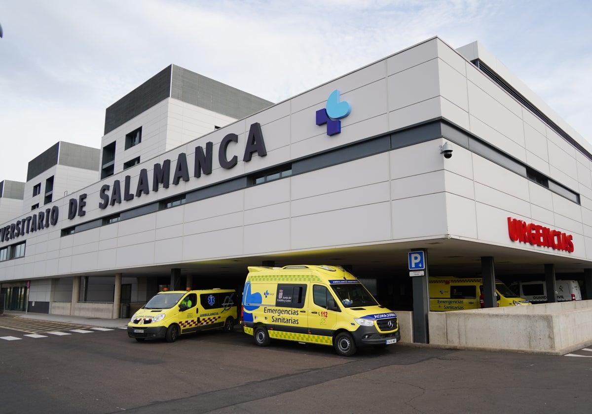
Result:
M260 346L287 339L350 356L401 339L397 315L340 266L249 267L242 305L244 332Z

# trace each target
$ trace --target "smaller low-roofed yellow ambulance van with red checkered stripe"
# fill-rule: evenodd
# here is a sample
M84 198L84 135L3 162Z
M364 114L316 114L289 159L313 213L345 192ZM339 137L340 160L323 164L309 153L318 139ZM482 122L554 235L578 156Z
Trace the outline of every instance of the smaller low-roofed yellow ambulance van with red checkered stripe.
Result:
M232 331L237 319L236 292L227 289L170 290L159 292L139 309L127 324L136 341L165 338L207 329Z

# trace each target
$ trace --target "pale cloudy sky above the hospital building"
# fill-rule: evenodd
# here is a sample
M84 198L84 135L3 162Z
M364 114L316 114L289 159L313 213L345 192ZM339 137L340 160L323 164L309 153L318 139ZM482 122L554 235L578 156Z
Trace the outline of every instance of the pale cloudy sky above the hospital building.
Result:
M435 35L478 40L592 142L589 0L0 0L0 181L173 63L281 102Z

